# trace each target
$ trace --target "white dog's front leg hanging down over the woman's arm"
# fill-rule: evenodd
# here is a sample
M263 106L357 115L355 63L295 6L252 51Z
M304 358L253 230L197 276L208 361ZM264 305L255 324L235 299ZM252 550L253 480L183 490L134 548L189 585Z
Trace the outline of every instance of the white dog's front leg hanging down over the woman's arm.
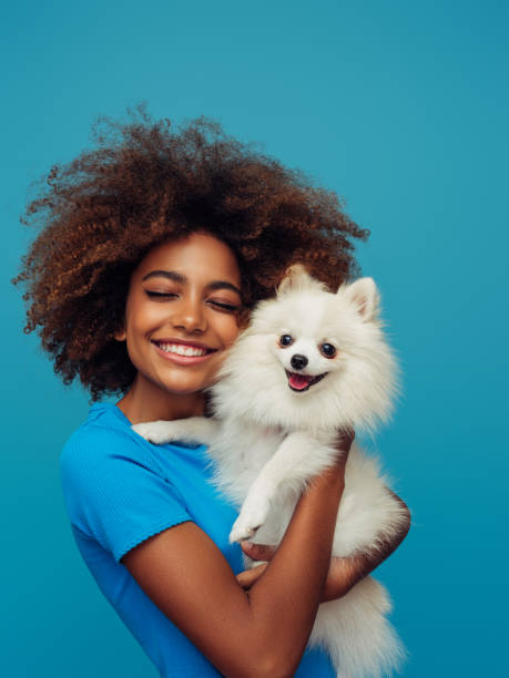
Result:
M291 433L252 483L230 533L231 542L253 537L265 523L276 493L302 492L306 482L330 466L337 450L322 445L307 433Z

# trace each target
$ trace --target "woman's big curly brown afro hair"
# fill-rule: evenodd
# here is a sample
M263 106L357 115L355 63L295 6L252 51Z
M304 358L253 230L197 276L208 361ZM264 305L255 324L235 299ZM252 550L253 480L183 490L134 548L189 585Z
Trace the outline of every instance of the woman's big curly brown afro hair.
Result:
M330 288L357 273L365 239L337 196L314 187L253 144L201 117L174 130L143 107L100 120L95 147L53 167L22 218L40 233L14 284L27 286L26 332L64 383L79 376L92 400L125 393L135 369L123 325L132 271L154 246L202 230L235 253L250 307L301 263Z

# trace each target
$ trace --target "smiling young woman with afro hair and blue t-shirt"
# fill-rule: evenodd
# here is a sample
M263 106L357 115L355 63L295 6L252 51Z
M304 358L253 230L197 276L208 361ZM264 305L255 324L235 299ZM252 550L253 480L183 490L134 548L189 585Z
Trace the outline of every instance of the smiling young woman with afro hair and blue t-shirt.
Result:
M248 319L301 261L330 287L355 273L360 230L334 194L200 120L173 132L143 114L109 123L28 214L42 230L18 281L29 331L95 403L62 454L78 547L162 676L332 676L306 649L320 602L396 548L335 558L350 440L303 494L268 565L243 571L235 520L204 448L155 446L131 424L206 412L205 389Z

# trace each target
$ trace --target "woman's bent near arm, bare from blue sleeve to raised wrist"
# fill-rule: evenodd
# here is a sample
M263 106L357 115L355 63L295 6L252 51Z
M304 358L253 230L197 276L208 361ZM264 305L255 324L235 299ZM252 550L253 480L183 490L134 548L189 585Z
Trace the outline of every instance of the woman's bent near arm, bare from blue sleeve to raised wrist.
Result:
M122 559L157 607L225 676L291 676L313 628L330 562L346 454L314 479L265 571L245 592L194 523Z

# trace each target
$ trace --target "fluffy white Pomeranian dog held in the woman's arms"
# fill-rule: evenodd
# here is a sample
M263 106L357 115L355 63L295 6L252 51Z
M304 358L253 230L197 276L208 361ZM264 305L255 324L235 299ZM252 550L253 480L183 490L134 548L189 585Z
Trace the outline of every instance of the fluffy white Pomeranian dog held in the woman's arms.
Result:
M212 387L214 417L133 427L156 444L210 445L215 480L241 507L232 542L278 544L306 483L336 462L338 431L374 431L388 418L397 367L378 312L371 278L334 294L293 266L228 351ZM373 553L406 522L377 463L354 443L333 555ZM406 655L390 607L386 589L365 577L319 606L309 643L326 648L342 678L390 675Z

